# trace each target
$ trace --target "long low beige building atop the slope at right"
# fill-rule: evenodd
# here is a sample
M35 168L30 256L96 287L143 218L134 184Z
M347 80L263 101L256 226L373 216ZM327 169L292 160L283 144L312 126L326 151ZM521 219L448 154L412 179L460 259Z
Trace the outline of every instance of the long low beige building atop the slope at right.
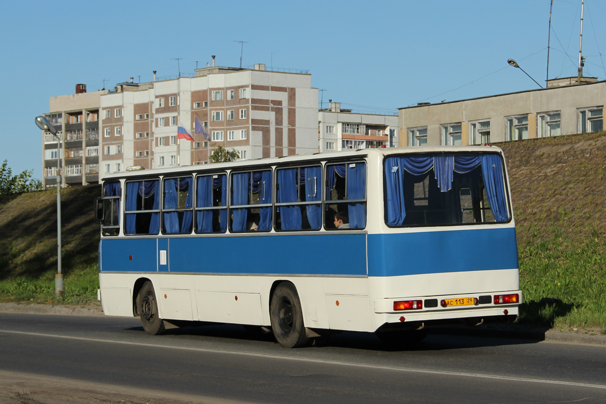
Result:
M604 128L606 81L548 81L547 88L399 108L401 146L481 145L597 132Z

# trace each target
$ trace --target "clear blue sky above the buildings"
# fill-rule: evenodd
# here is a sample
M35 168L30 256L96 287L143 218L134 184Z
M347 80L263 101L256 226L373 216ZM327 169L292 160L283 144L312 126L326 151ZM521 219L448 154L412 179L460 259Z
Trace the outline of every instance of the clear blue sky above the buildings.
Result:
M328 99L360 111L544 85L550 0L19 1L0 14L0 162L41 177L34 118L48 98L216 64L304 69ZM581 0L554 0L550 78L576 76ZM606 0L585 0L584 75L606 79ZM319 94L322 94L320 92ZM319 102L320 100L318 100ZM326 105L326 104L324 104Z

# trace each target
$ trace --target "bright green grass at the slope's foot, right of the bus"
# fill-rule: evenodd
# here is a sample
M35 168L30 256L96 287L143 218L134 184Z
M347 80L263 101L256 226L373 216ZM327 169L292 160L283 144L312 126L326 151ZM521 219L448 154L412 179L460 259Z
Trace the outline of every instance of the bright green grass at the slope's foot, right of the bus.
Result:
M606 237L598 231L584 240L562 236L519 249L524 293L519 322L551 328L606 329Z

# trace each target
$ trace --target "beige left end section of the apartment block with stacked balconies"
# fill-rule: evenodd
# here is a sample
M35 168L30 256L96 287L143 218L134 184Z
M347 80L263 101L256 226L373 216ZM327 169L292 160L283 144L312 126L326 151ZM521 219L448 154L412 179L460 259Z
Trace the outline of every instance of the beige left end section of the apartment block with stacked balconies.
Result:
M48 121L60 138L42 133L42 184L56 185L57 160L65 167L61 186L96 184L99 181L99 105L107 91L87 93L76 84L76 93L51 97Z

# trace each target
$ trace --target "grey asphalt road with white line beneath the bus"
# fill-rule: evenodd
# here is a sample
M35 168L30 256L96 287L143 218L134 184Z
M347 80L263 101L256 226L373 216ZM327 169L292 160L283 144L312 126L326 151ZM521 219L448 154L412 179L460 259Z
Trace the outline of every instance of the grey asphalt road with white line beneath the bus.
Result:
M606 346L430 335L396 351L342 333L285 349L236 325L148 336L116 317L0 313L0 372L188 402L606 403Z

